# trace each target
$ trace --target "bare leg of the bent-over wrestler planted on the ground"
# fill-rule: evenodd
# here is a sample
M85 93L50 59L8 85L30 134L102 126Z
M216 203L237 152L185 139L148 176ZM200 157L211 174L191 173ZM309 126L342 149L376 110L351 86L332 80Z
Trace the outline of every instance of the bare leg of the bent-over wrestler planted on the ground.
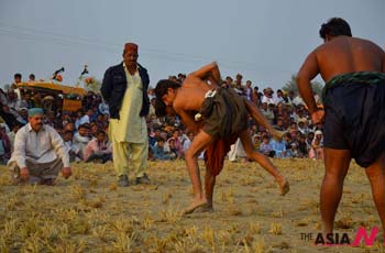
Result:
M198 166L197 156L201 151L207 147L212 142L212 138L207 134L205 131L199 131L199 133L194 138L190 147L185 153L186 165L188 168L188 174L193 184L194 199L190 206L185 209L185 213L190 213L198 207L205 206L208 204L206 196L202 193L200 172ZM215 183L215 180L213 180ZM209 187L209 189L213 189ZM211 193L212 194L212 193Z

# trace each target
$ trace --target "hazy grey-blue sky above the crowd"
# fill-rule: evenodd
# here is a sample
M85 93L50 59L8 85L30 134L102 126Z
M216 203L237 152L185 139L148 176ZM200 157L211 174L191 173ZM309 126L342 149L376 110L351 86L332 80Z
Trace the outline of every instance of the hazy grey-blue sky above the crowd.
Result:
M152 87L217 61L223 78L240 73L277 89L322 43L329 18L384 48L384 0L0 0L0 86L15 73L47 79L61 67L74 85L86 64L102 79L135 42Z

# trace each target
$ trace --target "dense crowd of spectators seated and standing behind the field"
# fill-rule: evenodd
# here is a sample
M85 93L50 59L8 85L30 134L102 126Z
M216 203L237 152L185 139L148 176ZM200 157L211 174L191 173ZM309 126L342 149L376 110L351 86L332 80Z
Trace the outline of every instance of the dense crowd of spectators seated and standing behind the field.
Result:
M31 79L33 78L33 79ZM169 76L169 79L183 82L185 75ZM34 80L34 75L30 75ZM43 107L44 100L38 92L21 96L16 84L22 81L20 74L14 75L14 82L8 90L0 89L0 163L6 164L12 153L13 140L18 130L28 122L28 109ZM308 111L300 97L294 91L286 92L267 87L260 91L251 80L243 82L242 75L228 76L222 87L234 89L240 96L253 101L277 130L285 132L280 140L275 140L254 119L250 118L250 138L254 148L277 158L322 160L322 127L312 125ZM155 114L154 89L148 89L151 101L146 118L152 161L184 158L194 133L184 128L178 117L157 118ZM318 97L316 96L318 100ZM82 107L75 112L62 111L62 108L45 109L44 123L53 127L62 136L72 162L106 163L112 160L111 144L108 140L108 106L99 94L88 91L82 98ZM242 145L234 145L233 154L245 160ZM233 155L232 155L233 156ZM243 156L243 157L242 157ZM202 157L202 155L200 156ZM232 158L231 161L234 161Z

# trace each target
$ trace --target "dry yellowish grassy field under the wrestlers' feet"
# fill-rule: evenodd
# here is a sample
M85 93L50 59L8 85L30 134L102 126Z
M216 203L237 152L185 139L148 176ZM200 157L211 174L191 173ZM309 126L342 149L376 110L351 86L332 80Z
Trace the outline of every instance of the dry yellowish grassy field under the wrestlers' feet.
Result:
M274 160L289 179L282 197L255 163L226 163L215 212L182 216L191 198L183 161L151 162L150 186L120 188L112 164L73 164L57 185L13 186L0 167L1 252L384 252L315 246L300 233L321 231L319 189L323 164ZM133 179L133 178L131 178ZM337 216L350 239L360 226L381 227L364 170L352 165Z

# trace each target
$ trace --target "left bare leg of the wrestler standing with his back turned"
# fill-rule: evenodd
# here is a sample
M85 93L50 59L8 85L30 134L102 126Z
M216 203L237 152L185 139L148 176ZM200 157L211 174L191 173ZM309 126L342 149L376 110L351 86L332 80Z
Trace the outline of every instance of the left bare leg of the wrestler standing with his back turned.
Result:
M351 161L350 151L323 148L324 176L320 193L323 234L332 233L336 212L342 197L343 180Z

